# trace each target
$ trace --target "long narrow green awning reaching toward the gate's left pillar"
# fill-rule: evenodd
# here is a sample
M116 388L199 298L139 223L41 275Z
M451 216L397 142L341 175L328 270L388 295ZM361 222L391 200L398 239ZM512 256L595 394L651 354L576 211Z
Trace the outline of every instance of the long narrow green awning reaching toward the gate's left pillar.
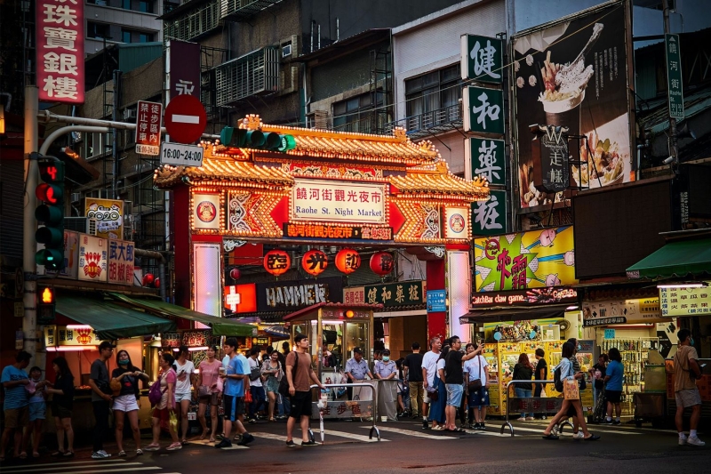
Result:
M212 335L215 336L244 336L251 337L257 335L256 325L247 325L225 317L214 317L208 314L183 308L176 304L166 303L161 300L148 298L129 298L121 293L108 293L118 301L134 305L140 309L145 309L162 317L182 317L196 323L209 325L212 328Z

